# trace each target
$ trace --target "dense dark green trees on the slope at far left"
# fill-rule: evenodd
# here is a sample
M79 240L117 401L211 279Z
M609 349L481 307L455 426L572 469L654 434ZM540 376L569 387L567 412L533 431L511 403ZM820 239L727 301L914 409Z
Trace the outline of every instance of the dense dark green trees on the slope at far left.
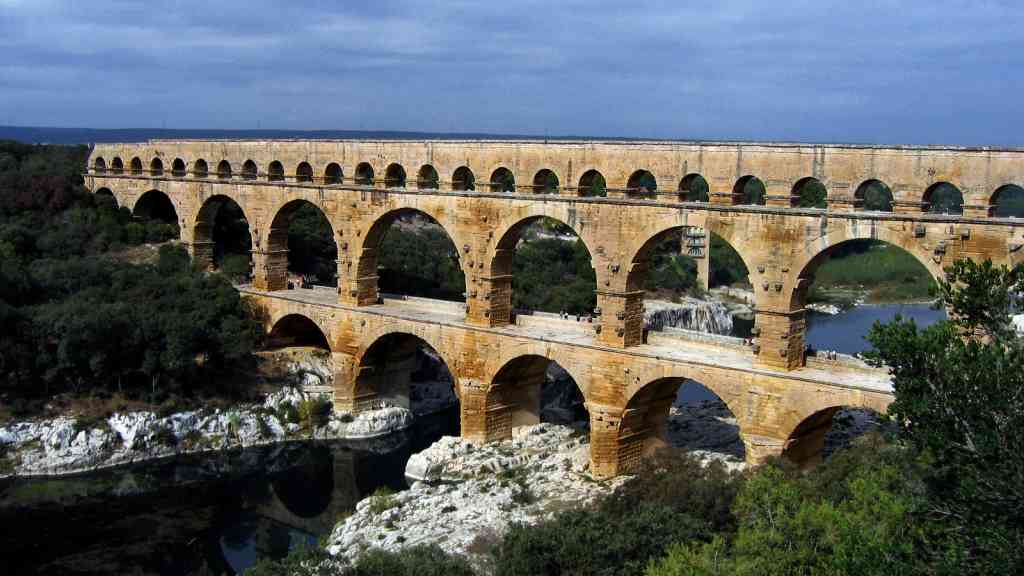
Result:
M87 154L0 143L3 406L23 415L66 393L161 402L222 392L209 376L248 358L260 333L251 312L180 246L132 257L177 228L85 191Z

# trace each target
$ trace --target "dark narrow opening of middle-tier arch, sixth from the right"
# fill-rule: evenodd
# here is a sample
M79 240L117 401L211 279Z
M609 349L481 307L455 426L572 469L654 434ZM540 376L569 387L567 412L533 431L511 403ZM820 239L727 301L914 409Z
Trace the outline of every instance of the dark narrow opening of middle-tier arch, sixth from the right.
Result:
M242 233L243 229L245 237L241 242L225 238ZM252 228L245 210L234 199L221 194L207 198L196 213L191 237L196 246L193 257L197 263L222 269L233 281L248 280L252 268ZM236 241L233 245L231 240ZM201 251L200 247L206 248ZM243 269L241 262L230 262L225 266L225 258L230 255L244 256L249 266ZM234 275L238 277L234 278Z

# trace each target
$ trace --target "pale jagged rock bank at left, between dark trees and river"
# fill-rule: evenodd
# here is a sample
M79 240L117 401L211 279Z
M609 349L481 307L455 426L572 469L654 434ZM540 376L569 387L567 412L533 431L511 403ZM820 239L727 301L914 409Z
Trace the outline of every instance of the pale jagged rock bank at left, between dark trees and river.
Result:
M58 476L166 458L307 439L381 438L413 422L404 408L353 416L287 387L262 404L197 410L169 416L118 413L85 422L58 417L0 427L0 478Z

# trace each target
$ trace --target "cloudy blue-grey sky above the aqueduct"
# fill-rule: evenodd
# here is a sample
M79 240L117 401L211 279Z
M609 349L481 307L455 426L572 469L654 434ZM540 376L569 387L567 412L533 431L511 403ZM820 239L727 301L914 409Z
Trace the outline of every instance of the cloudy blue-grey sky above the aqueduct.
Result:
M0 0L0 124L1024 146L1024 2Z

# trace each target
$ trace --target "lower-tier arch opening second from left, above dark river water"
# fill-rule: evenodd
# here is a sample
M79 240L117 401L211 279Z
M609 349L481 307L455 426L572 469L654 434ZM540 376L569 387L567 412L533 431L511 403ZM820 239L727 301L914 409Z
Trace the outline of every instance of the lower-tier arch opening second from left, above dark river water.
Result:
M400 406L426 414L459 404L447 359L417 334L388 332L377 337L358 356L355 373L353 398L368 408ZM458 434L458 428L450 433Z

